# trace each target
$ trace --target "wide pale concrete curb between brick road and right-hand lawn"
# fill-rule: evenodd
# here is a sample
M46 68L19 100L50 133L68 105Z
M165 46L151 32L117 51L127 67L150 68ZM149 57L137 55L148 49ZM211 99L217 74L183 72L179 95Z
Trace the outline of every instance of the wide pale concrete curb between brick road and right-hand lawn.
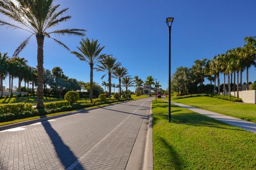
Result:
M152 105L152 103L151 103ZM126 170L153 169L152 111L145 114L125 167Z

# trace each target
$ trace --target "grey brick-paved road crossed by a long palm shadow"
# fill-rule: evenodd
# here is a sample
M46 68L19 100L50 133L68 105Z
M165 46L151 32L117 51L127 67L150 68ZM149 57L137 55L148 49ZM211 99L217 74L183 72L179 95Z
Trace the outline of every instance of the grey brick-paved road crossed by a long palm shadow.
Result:
M125 169L150 100L0 131L0 169Z

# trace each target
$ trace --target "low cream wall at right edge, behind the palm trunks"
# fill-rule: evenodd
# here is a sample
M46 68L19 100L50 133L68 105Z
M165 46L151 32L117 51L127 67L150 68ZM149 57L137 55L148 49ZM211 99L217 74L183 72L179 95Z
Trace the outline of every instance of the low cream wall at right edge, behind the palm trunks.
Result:
M237 96L237 92L232 91L231 95ZM239 98L243 100L243 103L256 104L256 90L239 91Z

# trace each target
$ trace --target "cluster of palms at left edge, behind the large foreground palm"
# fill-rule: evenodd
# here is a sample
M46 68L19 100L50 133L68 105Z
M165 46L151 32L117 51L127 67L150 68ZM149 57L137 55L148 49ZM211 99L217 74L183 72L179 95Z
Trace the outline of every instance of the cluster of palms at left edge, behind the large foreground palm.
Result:
M9 91L13 95L13 78L18 78L18 92L21 95L21 82L24 80L26 92L29 82L32 82L34 93L34 82L37 77L36 68L27 64L27 60L23 57L8 57L7 53L0 52L0 91L3 96L3 80L9 75Z

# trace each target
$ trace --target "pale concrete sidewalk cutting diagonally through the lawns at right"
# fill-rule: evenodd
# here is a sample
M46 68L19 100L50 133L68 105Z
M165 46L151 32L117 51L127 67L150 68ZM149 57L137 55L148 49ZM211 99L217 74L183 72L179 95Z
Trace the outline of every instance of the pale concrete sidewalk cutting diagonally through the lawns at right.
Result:
M165 99L163 99L163 100L168 102L168 100L165 100ZM174 105L183 107L183 108L187 108L190 111L193 111L193 112L196 112L196 113L214 118L215 120L227 123L229 125L242 128L246 131L256 133L256 123L247 122L247 121L241 120L239 118L226 116L226 115L222 115L222 114L211 112L211 111L206 111L204 109L200 109L200 108L196 108L196 107L192 107L192 106L187 106L187 105L183 105L183 104L180 104L180 103L175 103L173 101L171 103L174 104Z

